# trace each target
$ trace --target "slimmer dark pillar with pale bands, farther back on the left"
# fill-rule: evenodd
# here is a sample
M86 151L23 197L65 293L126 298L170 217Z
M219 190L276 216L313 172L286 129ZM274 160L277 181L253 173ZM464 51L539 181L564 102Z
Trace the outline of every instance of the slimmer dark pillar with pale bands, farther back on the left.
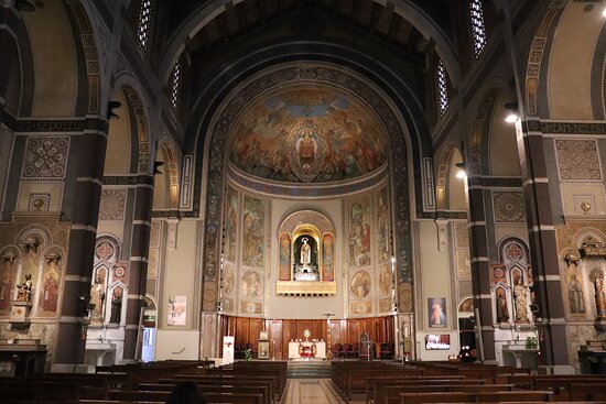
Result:
M134 194L129 286L126 301L125 360L139 360L141 357L139 352L140 347L137 346L137 336L140 331L139 320L145 302L152 200L153 176L139 175L137 192Z

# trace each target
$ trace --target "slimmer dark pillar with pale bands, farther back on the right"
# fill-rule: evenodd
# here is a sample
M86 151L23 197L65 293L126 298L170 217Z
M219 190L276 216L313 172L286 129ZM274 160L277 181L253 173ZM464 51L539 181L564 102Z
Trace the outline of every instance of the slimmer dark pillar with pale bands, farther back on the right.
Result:
M478 354L485 363L497 363L495 329L493 327L493 299L490 296L490 260L486 228L486 203L479 173L467 175L469 209L469 248L474 309L478 329Z

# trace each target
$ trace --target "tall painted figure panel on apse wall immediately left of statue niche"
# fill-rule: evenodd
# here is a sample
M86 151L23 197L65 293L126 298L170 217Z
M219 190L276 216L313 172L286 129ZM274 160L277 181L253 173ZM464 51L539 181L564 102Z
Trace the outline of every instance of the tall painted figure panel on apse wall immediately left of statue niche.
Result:
M261 199L245 196L242 220L242 264L262 267L264 256L266 204Z

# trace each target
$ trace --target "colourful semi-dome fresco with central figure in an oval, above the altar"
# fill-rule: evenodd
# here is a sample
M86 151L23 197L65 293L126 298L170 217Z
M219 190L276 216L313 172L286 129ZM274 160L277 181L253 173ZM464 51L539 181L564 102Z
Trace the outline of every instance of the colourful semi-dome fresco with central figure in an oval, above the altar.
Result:
M386 163L386 135L354 96L327 85L296 84L251 103L234 127L230 161L261 178L328 183Z

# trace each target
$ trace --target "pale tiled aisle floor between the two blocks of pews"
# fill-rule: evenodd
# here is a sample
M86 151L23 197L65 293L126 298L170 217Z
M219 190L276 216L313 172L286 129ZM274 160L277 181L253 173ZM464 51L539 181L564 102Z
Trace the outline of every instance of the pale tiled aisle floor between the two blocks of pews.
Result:
M284 398L280 404L361 404L345 401L328 379L289 379Z

